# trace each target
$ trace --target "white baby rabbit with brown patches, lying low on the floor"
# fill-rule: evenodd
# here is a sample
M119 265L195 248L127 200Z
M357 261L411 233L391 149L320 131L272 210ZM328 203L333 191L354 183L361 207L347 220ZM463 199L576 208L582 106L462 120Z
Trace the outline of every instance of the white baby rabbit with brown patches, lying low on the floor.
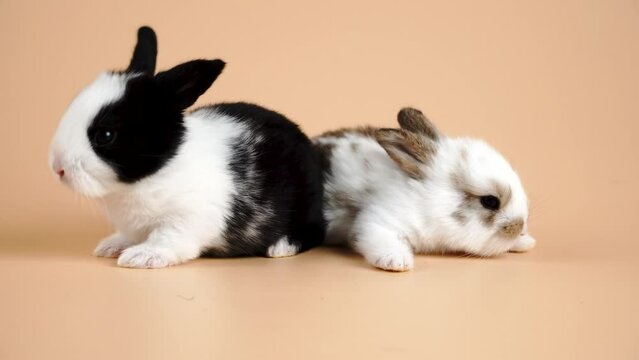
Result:
M400 129L363 127L314 139L322 151L327 243L347 243L381 269L414 253L526 251L528 199L508 161L482 140L443 135L421 111Z

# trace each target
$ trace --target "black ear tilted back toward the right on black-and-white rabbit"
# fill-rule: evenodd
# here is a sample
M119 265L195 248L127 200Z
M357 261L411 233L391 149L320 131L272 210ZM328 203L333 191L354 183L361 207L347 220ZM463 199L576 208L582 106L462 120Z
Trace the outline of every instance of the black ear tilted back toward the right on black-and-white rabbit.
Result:
M225 65L219 59L193 60L158 73L155 81L164 100L184 110L211 87Z

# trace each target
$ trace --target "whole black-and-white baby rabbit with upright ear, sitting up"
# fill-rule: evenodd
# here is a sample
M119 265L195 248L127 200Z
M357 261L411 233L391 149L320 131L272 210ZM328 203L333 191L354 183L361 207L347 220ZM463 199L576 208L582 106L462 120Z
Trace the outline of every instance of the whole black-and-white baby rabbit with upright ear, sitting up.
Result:
M225 63L194 60L154 75L155 33L138 30L125 71L105 72L71 103L50 166L100 198L117 232L94 254L160 268L203 254L295 255L318 245L322 174L310 140L247 103L184 112Z

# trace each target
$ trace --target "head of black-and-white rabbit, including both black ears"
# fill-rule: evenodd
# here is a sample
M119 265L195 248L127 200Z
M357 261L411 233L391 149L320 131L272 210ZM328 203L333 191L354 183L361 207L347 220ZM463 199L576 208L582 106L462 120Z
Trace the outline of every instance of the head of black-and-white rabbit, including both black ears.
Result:
M108 71L66 110L49 165L73 190L101 197L164 166L183 142L183 111L215 81L221 60L194 60L155 74L157 40L138 30L128 68Z

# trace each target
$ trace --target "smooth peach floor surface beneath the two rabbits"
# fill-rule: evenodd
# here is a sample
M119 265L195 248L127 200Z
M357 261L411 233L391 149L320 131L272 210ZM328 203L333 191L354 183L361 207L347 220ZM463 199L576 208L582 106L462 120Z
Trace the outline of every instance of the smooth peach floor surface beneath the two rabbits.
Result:
M334 248L130 270L91 257L84 235L45 236L0 249L1 359L639 357L629 251L542 238L496 259L420 256L408 273Z

